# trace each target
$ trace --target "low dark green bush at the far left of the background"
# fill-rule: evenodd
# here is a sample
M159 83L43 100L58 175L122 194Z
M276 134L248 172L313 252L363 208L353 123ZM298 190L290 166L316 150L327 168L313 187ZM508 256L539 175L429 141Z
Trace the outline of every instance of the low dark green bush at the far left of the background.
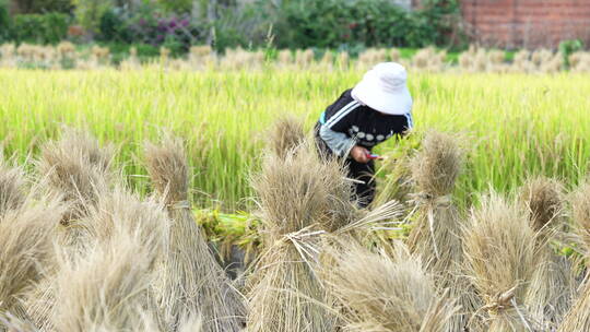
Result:
M70 16L62 13L14 16L14 39L19 43L56 44L68 35Z

